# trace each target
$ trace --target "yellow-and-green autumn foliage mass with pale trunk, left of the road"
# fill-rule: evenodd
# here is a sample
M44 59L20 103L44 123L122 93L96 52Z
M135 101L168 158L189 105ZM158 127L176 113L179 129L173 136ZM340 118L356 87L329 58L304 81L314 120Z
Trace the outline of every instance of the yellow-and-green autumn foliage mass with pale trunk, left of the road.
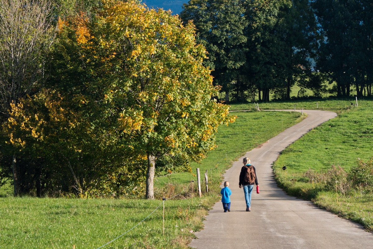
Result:
M78 193L118 177L123 164L141 172L145 159L153 199L158 158L199 161L215 147L218 125L234 120L211 100L219 88L193 25L170 12L105 1L95 19L81 13L60 29L54 89L12 106L6 131L29 156L32 147L54 155Z

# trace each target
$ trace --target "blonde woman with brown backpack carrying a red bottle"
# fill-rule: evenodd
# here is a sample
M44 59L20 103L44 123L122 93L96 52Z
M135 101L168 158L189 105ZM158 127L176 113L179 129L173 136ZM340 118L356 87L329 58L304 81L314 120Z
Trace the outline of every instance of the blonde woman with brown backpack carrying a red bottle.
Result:
M244 158L242 161L244 166L241 168L241 173L239 174L239 188L244 187L245 200L246 200L246 211L251 211L251 192L253 192L254 183L256 186L258 184L258 178L256 177L255 167L250 164L250 159Z

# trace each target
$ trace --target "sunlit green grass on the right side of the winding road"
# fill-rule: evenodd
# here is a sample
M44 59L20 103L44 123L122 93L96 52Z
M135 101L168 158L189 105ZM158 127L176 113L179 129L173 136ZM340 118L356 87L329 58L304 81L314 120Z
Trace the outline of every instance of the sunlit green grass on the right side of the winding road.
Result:
M314 128L282 152L273 165L276 180L290 195L313 200L320 207L360 222L373 231L372 189L354 187L343 193L340 190L343 186L337 183L338 203L335 190L325 191L325 179L332 165L349 172L358 158L367 161L373 156L373 101L359 100L357 107L351 106L355 104L352 100L326 100L319 102L319 106L320 103L338 116ZM267 108L283 108L285 104ZM306 109L310 104L299 103ZM282 170L284 165L286 174ZM325 177L324 181L318 179L319 174Z

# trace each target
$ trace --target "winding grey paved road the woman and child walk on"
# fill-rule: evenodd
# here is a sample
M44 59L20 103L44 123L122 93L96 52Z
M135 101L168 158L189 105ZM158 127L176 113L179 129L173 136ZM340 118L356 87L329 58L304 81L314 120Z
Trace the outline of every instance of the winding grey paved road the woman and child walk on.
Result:
M253 190L251 212L245 212L245 197L238 187L242 158L224 174L229 181L231 212L224 213L217 202L204 222L204 230L190 246L198 249L271 249L271 248L373 248L373 235L354 222L338 218L311 202L285 194L276 186L271 164L280 151L336 113L304 111L308 117L247 152L256 167L260 194Z

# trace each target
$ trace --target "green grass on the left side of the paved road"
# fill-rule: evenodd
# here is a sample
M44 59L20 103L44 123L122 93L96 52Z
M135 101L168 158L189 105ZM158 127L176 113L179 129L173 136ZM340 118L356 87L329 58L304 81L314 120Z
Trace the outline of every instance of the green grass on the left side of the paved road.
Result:
M158 198L181 193L175 199L164 202L164 236L163 201L160 199L6 196L0 197L0 248L73 248L73 245L76 249L99 248L124 233L103 248L187 248L194 231L202 228L209 208L220 199L219 185L225 169L246 151L304 117L299 112L233 114L238 116L235 123L219 127L216 138L219 147L211 151L201 164L192 165L194 174L197 167L202 175L208 170L209 193L203 188L202 198L197 198L195 194L191 198L191 180L196 180L196 177L190 173L156 178Z

